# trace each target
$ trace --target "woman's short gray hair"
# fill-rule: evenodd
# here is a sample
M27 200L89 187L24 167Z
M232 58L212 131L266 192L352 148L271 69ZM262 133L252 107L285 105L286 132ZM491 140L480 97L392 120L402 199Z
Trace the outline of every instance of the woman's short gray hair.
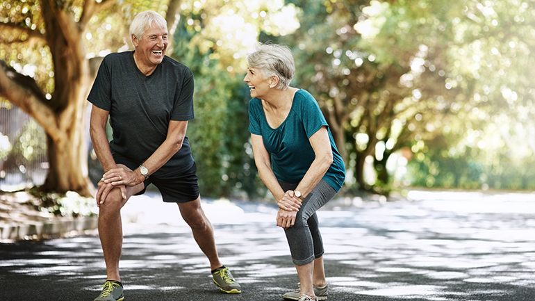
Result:
M295 74L290 48L279 44L258 44L256 51L247 56L249 67L258 68L263 76L268 79L271 76L279 76L278 90L286 90Z

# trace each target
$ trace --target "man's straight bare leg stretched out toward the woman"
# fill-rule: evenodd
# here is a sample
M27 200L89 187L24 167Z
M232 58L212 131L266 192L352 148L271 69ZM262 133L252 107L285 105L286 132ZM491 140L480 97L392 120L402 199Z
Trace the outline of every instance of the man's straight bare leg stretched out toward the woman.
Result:
M193 238L210 261L211 270L222 267L215 248L212 224L201 208L201 197L199 196L195 201L178 204L182 218L191 227Z

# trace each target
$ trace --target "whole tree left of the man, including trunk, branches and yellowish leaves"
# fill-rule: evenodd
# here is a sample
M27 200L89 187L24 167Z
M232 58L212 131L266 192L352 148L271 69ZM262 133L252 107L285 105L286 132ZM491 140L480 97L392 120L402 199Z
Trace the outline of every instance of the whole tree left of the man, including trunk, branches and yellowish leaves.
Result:
M31 115L46 133L49 172L43 190L86 196L94 191L84 147L91 78L82 37L92 16L114 2L0 5L0 97Z

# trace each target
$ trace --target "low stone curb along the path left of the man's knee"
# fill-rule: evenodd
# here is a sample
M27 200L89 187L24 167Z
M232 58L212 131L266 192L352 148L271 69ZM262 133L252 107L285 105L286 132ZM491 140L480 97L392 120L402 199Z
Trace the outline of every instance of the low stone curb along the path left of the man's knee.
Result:
M97 227L97 216L65 218L50 222L33 222L32 224L11 223L0 225L0 242L42 238L43 236L60 236L70 231L93 230L97 229Z

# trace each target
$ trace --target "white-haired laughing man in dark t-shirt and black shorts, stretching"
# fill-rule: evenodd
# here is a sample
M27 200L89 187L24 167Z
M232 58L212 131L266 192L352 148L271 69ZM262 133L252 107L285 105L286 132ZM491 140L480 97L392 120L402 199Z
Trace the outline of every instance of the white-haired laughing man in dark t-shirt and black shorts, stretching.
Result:
M165 56L167 23L154 11L139 13L130 27L134 51L104 58L89 94L90 135L104 168L96 200L107 281L94 301L124 299L119 275L121 208L149 184L164 202L176 203L210 261L213 281L224 293L241 293L222 265L211 223L201 208L196 167L186 137L193 119L193 74ZM108 142L110 117L113 139Z

